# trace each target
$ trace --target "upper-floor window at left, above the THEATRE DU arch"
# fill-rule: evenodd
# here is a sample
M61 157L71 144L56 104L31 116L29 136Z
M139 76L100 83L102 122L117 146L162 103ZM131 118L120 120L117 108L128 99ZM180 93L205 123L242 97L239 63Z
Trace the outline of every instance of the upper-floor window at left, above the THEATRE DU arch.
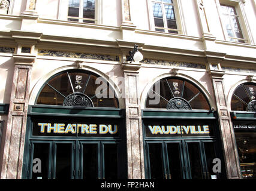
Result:
M68 20L95 23L95 0L69 0Z

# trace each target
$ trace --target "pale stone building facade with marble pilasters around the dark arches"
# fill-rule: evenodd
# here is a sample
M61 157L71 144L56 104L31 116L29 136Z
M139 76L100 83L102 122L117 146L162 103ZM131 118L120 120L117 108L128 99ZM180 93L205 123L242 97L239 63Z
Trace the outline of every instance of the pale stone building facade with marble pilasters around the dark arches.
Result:
M98 0L98 23L68 21L68 1L42 4L27 0L26 8L14 1L11 14L7 12L8 1L1 2L0 98L5 103L0 104L10 106L7 113L0 113L0 120L5 119L1 178L23 178L23 159L28 155L28 108L35 105L48 79L70 69L104 76L118 95L124 95L119 98L119 106L125 110L128 178L146 178L149 167L144 158L141 110L147 109L149 88L166 77L192 82L206 95L210 109L218 114L225 178L242 178L230 102L238 85L256 82L256 7L252 1L231 1L242 16L247 16L242 23L248 43L227 41L222 21L216 19L221 18L222 1L173 1L179 7L178 34L155 30L150 1L112 1L116 8L113 11L109 1ZM127 55L134 44L138 44L144 58L130 63ZM14 72L10 74L12 67ZM11 89L5 88L8 85Z

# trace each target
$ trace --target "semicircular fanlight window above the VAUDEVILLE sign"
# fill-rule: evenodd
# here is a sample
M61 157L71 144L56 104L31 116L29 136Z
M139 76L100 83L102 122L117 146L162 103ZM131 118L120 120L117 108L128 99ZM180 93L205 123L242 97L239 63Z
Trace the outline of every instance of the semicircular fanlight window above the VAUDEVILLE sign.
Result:
M195 85L178 78L156 82L147 94L146 108L210 110L204 94Z

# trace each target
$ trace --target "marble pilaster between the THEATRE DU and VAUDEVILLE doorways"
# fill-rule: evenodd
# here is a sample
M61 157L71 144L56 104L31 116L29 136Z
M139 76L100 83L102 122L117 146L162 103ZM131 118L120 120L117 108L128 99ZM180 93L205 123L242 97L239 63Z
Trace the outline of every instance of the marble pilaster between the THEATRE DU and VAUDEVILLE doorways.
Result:
M140 67L140 63L122 63L125 78L129 179L144 179L145 177L140 96L138 95L138 69Z

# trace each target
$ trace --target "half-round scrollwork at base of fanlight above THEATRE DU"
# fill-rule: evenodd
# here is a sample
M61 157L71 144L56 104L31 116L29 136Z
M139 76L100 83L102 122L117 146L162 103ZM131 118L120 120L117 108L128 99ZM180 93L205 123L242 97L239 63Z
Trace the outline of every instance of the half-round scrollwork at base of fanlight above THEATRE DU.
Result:
M65 98L63 106L94 107L94 104L85 94L75 93Z

